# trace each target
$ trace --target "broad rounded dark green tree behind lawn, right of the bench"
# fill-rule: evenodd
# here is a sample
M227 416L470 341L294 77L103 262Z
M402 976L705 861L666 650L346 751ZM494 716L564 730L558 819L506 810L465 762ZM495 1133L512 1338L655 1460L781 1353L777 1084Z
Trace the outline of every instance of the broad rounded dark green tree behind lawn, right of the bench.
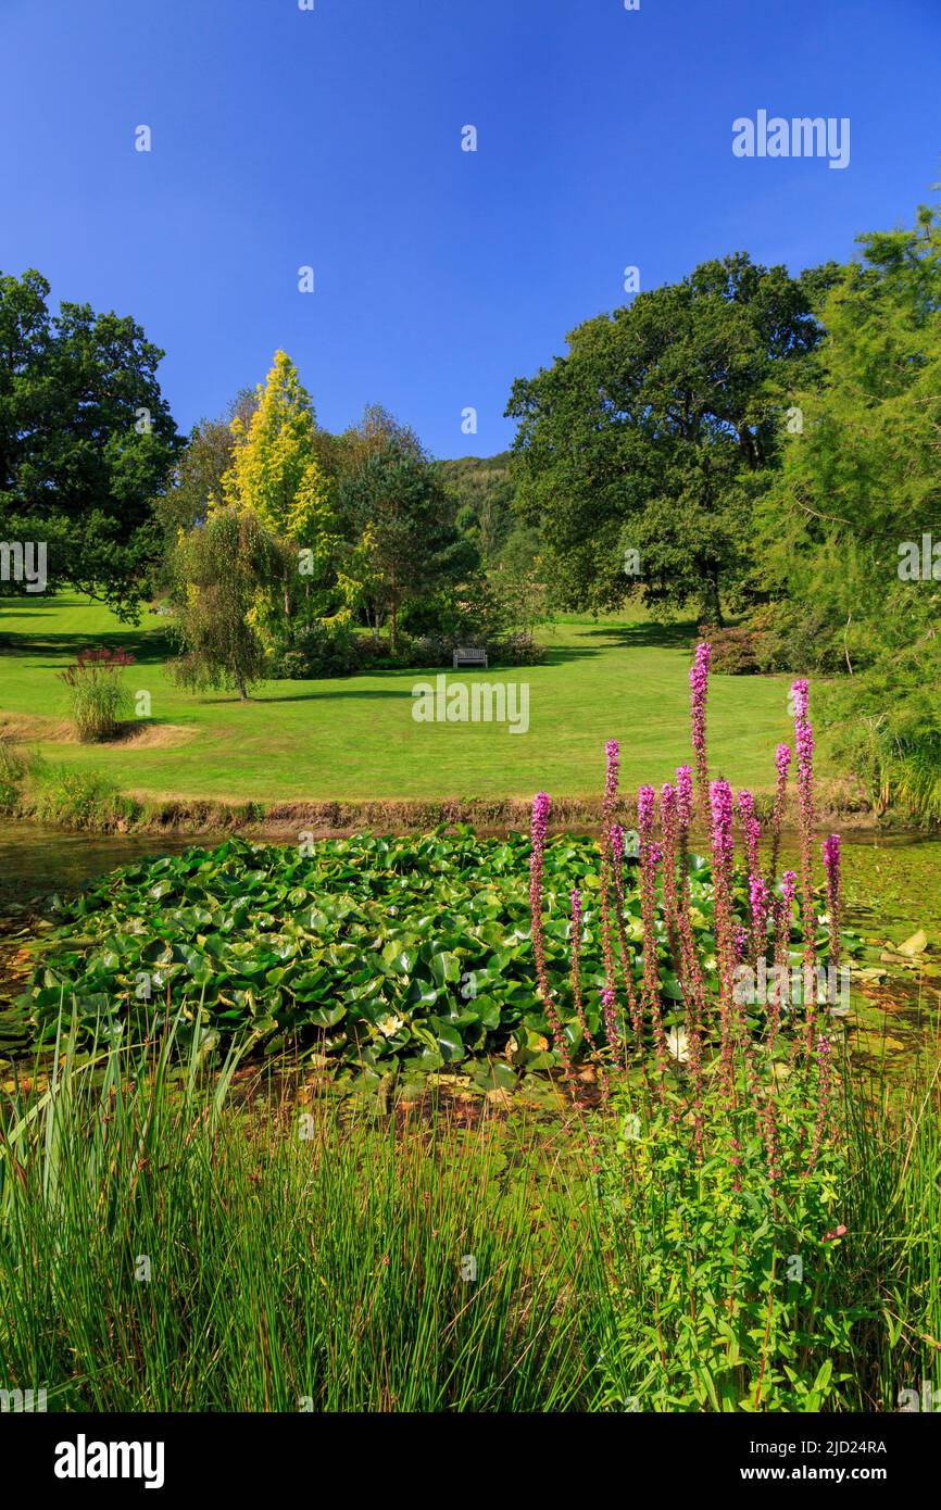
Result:
M569 352L512 390L518 504L539 527L563 607L693 598L722 622L751 568L754 497L820 329L832 269L793 279L746 255L704 263L569 335ZM625 551L640 556L625 575Z

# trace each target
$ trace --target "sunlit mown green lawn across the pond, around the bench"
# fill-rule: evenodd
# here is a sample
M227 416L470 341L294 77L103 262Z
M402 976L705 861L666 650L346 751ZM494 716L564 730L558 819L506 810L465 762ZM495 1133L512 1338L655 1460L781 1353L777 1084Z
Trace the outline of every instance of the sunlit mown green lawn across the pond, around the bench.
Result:
M603 744L618 738L622 781L665 781L689 760L687 669L695 630L566 619L545 630L544 666L465 670L452 680L529 683L529 732L495 723L415 723L411 689L429 672L375 672L334 681L266 683L254 701L196 696L163 670L166 621L127 628L77 596L17 599L0 612L0 716L66 717L56 676L83 645L124 645L127 673L151 695L157 725L192 728L168 747L47 741L51 760L95 766L125 791L150 797L441 799L600 791ZM790 735L787 678L714 676L710 752L714 773L740 785L773 784L773 747Z

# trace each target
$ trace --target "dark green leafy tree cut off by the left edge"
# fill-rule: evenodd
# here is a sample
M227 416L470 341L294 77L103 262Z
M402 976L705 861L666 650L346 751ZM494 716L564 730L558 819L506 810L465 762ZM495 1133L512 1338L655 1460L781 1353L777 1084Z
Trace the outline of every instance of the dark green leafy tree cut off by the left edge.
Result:
M151 500L180 448L163 352L130 317L50 314L48 293L35 270L0 276L0 536L45 541L51 584L134 618L159 545Z

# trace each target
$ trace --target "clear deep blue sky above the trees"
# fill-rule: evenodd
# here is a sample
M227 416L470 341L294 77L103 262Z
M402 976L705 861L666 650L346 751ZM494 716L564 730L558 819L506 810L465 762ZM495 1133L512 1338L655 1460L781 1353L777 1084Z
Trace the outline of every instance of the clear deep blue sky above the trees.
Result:
M941 0L0 0L0 269L140 320L183 429L282 346L329 429L491 455L627 264L847 258L939 177ZM849 168L736 159L760 109Z

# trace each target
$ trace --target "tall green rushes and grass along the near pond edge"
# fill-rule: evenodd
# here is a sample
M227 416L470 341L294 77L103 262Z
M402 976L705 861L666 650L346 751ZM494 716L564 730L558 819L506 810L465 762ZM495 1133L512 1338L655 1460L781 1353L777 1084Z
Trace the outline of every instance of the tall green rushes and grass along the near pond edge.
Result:
M654 1161L630 1213L610 1200L616 1116L403 1125L261 1080L234 1099L234 1060L208 1075L198 1051L172 1057L172 1033L156 1062L112 1045L80 1063L63 1040L45 1092L5 1098L0 1388L45 1388L53 1410L755 1407L754 1376L730 1392L758 1351L754 1306L728 1299L757 1191L734 1255L728 1235L708 1250L708 1320L690 1311L675 1164ZM826 1264L805 1252L794 1335L775 1339L805 1401L791 1409L896 1410L900 1391L941 1383L938 1113L936 1080L903 1113L846 1090L832 1220L847 1231ZM662 1314L627 1284L639 1234L666 1261ZM790 1256L770 1253L782 1277ZM668 1305L683 1356L654 1347L651 1371ZM710 1370L701 1403L663 1388L683 1374L699 1389ZM781 1398L766 1382L758 1409Z

